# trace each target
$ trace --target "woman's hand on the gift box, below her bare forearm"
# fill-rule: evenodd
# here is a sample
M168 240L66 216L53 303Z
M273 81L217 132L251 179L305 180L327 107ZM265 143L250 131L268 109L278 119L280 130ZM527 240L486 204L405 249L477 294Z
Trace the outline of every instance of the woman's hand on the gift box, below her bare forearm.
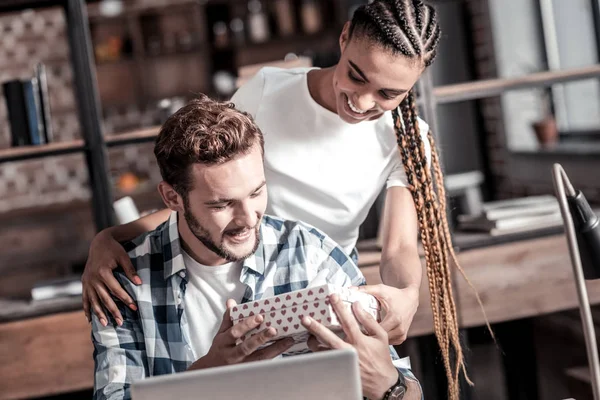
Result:
M379 300L385 312L381 326L388 334L389 343L402 344L408 336L408 328L419 307L419 289L414 286L397 289L379 284L360 286L358 290L369 293Z

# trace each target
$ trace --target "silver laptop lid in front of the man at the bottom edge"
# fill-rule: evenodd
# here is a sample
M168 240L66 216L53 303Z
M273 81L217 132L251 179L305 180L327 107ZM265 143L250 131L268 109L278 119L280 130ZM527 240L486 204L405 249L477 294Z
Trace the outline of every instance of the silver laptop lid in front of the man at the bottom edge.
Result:
M133 400L361 400L353 349L160 375L133 383Z

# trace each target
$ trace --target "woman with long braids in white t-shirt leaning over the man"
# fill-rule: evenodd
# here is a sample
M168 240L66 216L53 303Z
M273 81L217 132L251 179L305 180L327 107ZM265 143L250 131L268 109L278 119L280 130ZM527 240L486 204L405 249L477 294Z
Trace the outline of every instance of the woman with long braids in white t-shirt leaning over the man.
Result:
M433 137L417 117L412 90L433 62L439 38L431 6L419 0L375 0L359 7L344 26L337 65L264 68L232 101L264 133L267 213L307 222L356 256L359 226L387 188L384 284L360 290L383 304L381 326L390 344L402 343L418 307L420 236L435 334L449 397L456 399L463 357L449 267L454 254ZM109 293L135 308L112 276L120 265L132 282L141 283L118 241L154 229L168 215L168 210L159 211L96 236L82 279L87 315L91 308L106 323L104 305L118 318Z

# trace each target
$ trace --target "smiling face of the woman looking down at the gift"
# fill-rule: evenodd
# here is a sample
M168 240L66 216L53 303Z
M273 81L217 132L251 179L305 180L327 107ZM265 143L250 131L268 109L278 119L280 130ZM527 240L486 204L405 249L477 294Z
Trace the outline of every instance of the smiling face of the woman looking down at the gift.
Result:
M333 76L337 114L356 124L377 119L398 107L415 85L423 65L419 59L394 55L368 39L340 36L341 58Z

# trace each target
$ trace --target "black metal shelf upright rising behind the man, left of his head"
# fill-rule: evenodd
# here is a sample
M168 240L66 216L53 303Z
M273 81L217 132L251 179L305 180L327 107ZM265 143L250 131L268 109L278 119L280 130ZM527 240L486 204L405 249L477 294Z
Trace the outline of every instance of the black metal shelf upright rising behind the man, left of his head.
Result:
M74 72L75 94L81 131L86 142L85 158L92 190L96 229L114 225L112 188L107 169L106 144L100 125L100 101L96 66L92 56L90 29L84 0L66 0L65 14Z

